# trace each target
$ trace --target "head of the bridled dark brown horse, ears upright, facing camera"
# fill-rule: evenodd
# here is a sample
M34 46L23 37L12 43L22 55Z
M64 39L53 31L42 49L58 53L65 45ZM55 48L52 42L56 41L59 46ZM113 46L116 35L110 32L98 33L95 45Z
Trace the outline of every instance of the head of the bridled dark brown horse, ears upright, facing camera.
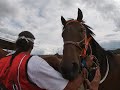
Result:
M62 37L64 41L63 60L61 62L61 73L64 78L74 79L81 72L81 59L84 56L86 28L83 25L83 14L78 9L76 20L66 21L61 16L63 24Z

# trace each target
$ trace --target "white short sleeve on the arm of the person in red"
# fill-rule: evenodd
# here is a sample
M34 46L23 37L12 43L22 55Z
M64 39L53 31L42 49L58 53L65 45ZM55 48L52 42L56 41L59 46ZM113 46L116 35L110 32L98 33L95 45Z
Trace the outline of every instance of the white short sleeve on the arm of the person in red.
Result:
M30 80L43 89L63 90L68 84L68 80L38 56L32 56L28 61L27 73Z

